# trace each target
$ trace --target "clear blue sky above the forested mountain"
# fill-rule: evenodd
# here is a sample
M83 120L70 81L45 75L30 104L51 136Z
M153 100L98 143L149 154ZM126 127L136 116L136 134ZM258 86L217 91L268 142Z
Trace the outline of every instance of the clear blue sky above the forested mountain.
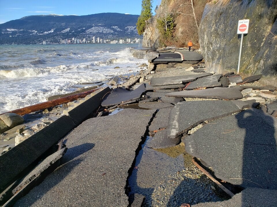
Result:
M152 10L160 0L153 0ZM89 15L105 12L141 13L141 0L0 0L0 24L31 15Z

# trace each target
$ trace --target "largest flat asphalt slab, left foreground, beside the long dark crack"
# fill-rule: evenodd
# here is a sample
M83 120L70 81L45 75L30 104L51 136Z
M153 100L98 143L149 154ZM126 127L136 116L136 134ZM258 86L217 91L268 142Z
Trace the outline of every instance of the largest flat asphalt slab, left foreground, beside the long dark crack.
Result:
M14 206L128 206L126 181L155 112L124 109L83 122L66 137L64 164Z

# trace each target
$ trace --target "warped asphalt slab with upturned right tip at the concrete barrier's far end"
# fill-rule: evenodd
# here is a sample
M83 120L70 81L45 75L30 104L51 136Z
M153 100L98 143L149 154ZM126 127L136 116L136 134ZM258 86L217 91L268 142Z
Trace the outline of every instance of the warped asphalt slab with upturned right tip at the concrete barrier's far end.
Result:
M121 104L122 102L131 101L141 97L141 94L145 91L144 84L141 84L134 91L128 91L121 87L116 88L102 101L101 106L114 106Z

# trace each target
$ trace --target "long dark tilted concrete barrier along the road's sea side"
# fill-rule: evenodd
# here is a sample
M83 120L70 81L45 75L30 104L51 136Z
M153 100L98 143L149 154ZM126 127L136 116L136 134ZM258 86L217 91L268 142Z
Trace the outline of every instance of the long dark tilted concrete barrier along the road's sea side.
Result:
M77 101L53 123L38 131L25 141L0 156L0 192L2 192L20 174L51 146L80 124L91 112L96 110L102 97L111 91L108 87L99 89Z

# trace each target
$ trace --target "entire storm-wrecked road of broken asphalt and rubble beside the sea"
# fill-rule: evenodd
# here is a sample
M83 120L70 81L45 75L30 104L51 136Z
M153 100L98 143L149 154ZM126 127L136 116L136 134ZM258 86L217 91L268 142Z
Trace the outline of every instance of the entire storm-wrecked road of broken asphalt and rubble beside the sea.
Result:
M139 72L10 115L21 122L1 134L1 205L274 206L276 87L206 71L200 50L132 53L149 59Z

